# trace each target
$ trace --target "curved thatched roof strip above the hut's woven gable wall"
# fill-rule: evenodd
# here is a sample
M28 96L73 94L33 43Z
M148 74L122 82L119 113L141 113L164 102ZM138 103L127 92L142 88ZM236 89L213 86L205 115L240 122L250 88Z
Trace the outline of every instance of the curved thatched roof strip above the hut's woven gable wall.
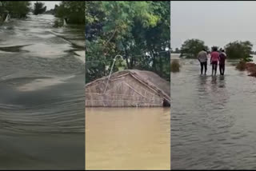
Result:
M154 74L151 71L147 70L122 70L114 74L111 74L110 80L118 79L130 75L132 78L138 82L145 85L147 88L152 89L155 93L160 94L161 97L164 97L166 101L170 103L170 82L167 82L165 79L160 78L158 74ZM105 81L108 79L108 76L103 78L98 78L97 80L86 84L87 86L98 84L99 82ZM101 89L102 91L102 89ZM98 92L102 93L102 92Z

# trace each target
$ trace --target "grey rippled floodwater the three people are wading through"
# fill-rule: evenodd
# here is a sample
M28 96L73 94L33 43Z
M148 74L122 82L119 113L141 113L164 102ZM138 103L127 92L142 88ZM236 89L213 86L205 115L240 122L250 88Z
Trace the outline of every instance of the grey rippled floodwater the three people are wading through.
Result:
M171 74L171 169L256 169L256 78L231 62L216 77L210 65L200 76L197 59L180 62Z

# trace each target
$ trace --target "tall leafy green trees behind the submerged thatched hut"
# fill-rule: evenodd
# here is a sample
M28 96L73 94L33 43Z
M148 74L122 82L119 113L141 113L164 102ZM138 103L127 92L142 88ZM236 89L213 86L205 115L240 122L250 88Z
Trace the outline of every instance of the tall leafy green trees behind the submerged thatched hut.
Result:
M114 71L151 70L170 80L166 47L170 2L86 1L86 82L109 74L117 54Z

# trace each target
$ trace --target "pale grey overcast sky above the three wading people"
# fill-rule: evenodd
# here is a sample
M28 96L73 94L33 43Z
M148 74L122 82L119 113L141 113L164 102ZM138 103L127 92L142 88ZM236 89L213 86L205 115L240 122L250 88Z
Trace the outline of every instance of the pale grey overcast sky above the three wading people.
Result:
M206 46L223 47L233 41L250 41L256 50L256 2L171 2L171 47L189 38Z

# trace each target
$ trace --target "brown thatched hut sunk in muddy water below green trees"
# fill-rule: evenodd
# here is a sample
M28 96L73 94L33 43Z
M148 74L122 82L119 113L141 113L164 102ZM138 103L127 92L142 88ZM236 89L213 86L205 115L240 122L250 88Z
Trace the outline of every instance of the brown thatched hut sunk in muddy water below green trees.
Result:
M170 106L170 82L146 70L122 70L86 84L86 107Z

